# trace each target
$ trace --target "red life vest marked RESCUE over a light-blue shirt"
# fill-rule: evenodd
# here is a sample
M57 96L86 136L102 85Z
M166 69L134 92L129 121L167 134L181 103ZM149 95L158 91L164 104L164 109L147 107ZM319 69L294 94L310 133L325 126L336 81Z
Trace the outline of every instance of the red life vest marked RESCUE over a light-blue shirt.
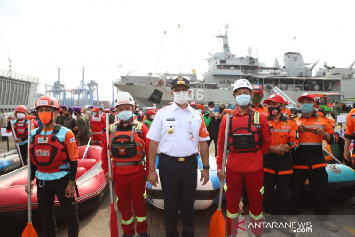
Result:
M53 173L59 171L69 171L69 169L60 169L60 165L69 162L69 156L63 142L57 138L57 133L61 129L61 125L54 125L53 133L40 135L42 126L39 127L34 135L32 135L31 145L31 161L38 167L38 171L43 173Z

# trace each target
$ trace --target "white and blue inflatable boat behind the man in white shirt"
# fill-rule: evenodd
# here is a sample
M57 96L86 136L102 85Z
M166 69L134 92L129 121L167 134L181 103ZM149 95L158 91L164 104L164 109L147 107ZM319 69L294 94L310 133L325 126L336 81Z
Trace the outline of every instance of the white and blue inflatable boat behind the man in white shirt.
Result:
M198 154L197 162L197 188L196 188L196 199L195 199L195 210L204 210L209 208L213 204L218 204L218 196L219 196L219 178L217 176L217 164L216 158L212 155L209 155L209 181L202 186L201 171L202 171L202 160L200 154ZM164 209L164 200L163 200L163 192L162 187L160 186L160 177L159 177L159 155L157 155L157 161L155 164L155 169L158 173L159 183L157 183L157 187L154 187L152 184L147 182L147 199L146 202L149 205L155 206L156 208ZM225 200L225 194L223 194L223 200Z

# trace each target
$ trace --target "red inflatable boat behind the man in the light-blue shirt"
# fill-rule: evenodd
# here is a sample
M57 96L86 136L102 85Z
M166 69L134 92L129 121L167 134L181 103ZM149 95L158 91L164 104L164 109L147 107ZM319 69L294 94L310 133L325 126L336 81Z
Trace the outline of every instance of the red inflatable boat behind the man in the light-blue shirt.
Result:
M101 168L101 150L99 146L90 146L86 156L82 159L85 146L79 147L78 170L76 183L79 197L75 194L78 204L79 216L93 211L100 203L107 190L104 171ZM27 166L0 176L0 221L3 224L8 221L26 222L27 218L27 194L24 187L27 183ZM35 183L35 182L34 182ZM37 215L37 187L34 185L32 197L32 214ZM63 219L59 201L55 198L56 220ZM35 221L35 217L34 217Z

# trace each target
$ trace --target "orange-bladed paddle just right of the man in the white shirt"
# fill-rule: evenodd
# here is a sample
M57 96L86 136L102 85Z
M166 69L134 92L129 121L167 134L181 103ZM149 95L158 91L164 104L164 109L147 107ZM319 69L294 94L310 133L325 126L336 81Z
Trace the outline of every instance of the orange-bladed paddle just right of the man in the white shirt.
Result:
M225 109L223 113L226 113L226 126L224 135L224 147L223 147L223 161L222 161L222 174L225 170L225 161L227 157L227 145L228 145L228 128L230 121L230 114L233 113L231 109ZM211 222L209 223L209 237L224 237L225 236L225 220L222 214L222 195L223 195L223 180L219 183L219 198L218 198L218 209L211 217Z

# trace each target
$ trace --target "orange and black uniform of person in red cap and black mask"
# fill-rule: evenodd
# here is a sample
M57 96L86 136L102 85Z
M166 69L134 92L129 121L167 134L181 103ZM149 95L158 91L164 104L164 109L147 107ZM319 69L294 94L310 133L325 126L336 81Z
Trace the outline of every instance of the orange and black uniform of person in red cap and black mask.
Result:
M282 113L282 112L281 112ZM286 118L283 114L278 122L272 117L267 117L273 146L287 144L291 152L298 148L298 126L293 119ZM287 215L290 194L291 178L293 174L291 155L268 153L263 155L264 166L264 202L265 214ZM274 187L276 185L276 195Z

